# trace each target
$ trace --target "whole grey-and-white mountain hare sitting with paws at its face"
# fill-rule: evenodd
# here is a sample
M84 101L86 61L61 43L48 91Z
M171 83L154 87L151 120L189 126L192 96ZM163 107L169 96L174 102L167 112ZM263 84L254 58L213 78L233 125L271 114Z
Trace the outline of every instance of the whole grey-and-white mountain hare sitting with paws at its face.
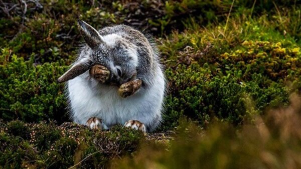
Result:
M155 45L126 25L97 31L78 20L86 42L58 82L68 81L73 121L91 128L114 124L154 130L161 121L165 77Z

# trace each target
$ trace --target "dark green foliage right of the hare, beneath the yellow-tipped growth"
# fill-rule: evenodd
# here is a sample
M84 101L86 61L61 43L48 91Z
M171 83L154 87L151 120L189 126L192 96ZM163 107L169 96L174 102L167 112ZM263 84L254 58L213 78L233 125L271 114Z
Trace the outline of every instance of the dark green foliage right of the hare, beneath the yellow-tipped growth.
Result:
M254 79L242 81L235 71L213 76L207 66L193 63L167 70L170 94L165 101L162 128L177 126L182 115L198 120L203 126L214 117L239 124L253 111L262 112L288 102L288 90L273 81L265 84L260 74L254 73Z

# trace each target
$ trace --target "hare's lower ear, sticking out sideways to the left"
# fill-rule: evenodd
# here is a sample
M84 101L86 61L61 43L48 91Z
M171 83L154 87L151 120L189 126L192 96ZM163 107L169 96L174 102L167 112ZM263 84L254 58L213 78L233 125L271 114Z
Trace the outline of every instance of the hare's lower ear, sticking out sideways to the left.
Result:
M58 78L58 82L64 82L64 81L68 81L82 73L84 73L85 71L87 71L89 68L91 68L93 62L90 59L82 59L79 62L73 64L73 66L66 71L62 76L60 76L60 78Z

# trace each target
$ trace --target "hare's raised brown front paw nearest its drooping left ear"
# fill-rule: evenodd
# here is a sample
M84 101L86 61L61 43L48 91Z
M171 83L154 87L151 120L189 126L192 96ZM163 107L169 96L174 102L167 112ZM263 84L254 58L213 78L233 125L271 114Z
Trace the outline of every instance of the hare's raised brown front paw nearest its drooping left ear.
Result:
M108 68L101 64L93 65L90 68L89 73L92 77L94 77L101 83L104 83L110 77L110 71L108 70Z

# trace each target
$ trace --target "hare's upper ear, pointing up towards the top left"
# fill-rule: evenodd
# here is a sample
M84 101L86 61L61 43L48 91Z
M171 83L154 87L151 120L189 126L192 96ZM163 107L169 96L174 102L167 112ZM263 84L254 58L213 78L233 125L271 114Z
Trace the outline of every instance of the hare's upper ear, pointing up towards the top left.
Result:
M103 37L90 24L82 20L77 20L78 29L84 37L86 43L92 48L96 48L100 43L103 43Z

